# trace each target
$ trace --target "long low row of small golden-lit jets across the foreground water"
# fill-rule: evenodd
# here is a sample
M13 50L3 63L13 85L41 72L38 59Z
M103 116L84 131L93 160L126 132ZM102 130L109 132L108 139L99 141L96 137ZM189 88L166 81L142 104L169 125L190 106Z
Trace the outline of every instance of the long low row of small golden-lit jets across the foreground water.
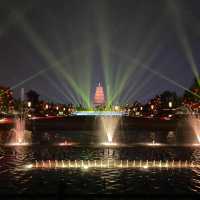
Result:
M114 168L114 169L189 169L200 168L194 161L181 160L47 160L35 161L35 163L24 166L26 169L71 169L71 168Z

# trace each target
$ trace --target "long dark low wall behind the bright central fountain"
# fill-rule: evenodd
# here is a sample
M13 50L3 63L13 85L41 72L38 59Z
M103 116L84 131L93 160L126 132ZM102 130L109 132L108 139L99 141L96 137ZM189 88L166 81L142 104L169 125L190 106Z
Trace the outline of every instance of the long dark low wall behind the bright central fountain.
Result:
M120 117L118 128L131 129L153 129L153 130L176 130L179 120L159 120L147 118ZM31 130L96 130L99 129L100 117L71 116L51 119L37 119L27 122Z

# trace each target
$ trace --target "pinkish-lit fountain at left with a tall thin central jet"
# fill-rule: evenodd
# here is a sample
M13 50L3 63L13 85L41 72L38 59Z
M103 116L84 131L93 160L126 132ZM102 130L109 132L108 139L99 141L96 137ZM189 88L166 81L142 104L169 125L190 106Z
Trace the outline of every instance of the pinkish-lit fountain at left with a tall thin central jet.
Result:
M21 102L24 101L24 89L21 90ZM25 117L23 105L21 106L20 117L15 119L15 127L10 131L11 137L8 146L27 146L30 144L31 132L25 129Z

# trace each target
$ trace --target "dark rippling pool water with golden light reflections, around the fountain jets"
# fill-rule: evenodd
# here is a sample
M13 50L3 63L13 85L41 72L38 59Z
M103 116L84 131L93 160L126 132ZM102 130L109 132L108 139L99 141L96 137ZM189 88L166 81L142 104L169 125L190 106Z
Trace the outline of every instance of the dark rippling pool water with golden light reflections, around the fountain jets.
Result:
M33 139L42 142L30 147L0 146L0 193L3 192L56 192L60 180L66 183L66 192L138 193L156 192L199 192L199 169L70 169L70 170L22 170L35 160L188 160L199 163L200 149L196 147L133 146L133 147L90 147L98 143L93 132L38 133ZM124 137L126 135L126 137ZM92 137L92 139L91 139ZM0 135L0 138L3 138ZM83 141L82 141L82 138ZM53 146L55 142L82 142L83 146ZM120 139L118 136L117 139ZM176 132L133 131L123 133L123 143L152 142L172 144ZM3 140L3 139L2 139ZM91 141L92 140L92 141ZM3 141L2 141L3 142ZM1 184L3 183L3 184Z

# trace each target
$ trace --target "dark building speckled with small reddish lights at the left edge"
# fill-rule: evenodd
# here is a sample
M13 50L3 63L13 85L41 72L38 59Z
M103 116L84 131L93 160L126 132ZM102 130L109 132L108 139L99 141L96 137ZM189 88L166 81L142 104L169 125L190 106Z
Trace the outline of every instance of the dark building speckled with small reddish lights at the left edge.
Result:
M0 112L9 113L14 110L13 92L8 87L0 86Z

